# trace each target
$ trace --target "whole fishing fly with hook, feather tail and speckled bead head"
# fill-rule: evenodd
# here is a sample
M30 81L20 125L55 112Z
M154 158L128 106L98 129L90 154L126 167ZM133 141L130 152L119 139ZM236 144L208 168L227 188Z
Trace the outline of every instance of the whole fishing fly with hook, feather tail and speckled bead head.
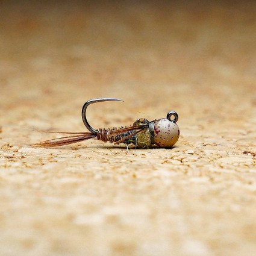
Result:
M92 128L86 118L86 110L90 104L102 101L122 101L116 98L98 98L90 99L82 108L82 119L84 125L90 132L84 133L66 133L58 132L60 134L69 134L69 136L60 137L57 139L45 140L34 144L33 146L39 148L49 148L54 146L68 145L76 142L81 142L88 139L98 139L102 142L114 143L118 145L123 143L128 148L128 145L133 144L136 148L150 148L156 145L159 148L170 148L178 141L180 136L180 129L176 122L178 121L178 114L175 111L169 111L166 118L161 118L149 122L145 118L137 119L131 126L120 128L99 128L98 130ZM173 119L171 119L173 117ZM52 132L49 132L52 133ZM53 132L54 133L54 132Z

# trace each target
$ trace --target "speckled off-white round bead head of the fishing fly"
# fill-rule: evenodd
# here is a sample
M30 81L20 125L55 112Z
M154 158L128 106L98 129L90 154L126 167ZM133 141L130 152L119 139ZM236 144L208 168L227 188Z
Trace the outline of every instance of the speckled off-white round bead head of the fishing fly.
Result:
M154 142L160 148L170 148L180 137L179 126L163 118L154 122Z

